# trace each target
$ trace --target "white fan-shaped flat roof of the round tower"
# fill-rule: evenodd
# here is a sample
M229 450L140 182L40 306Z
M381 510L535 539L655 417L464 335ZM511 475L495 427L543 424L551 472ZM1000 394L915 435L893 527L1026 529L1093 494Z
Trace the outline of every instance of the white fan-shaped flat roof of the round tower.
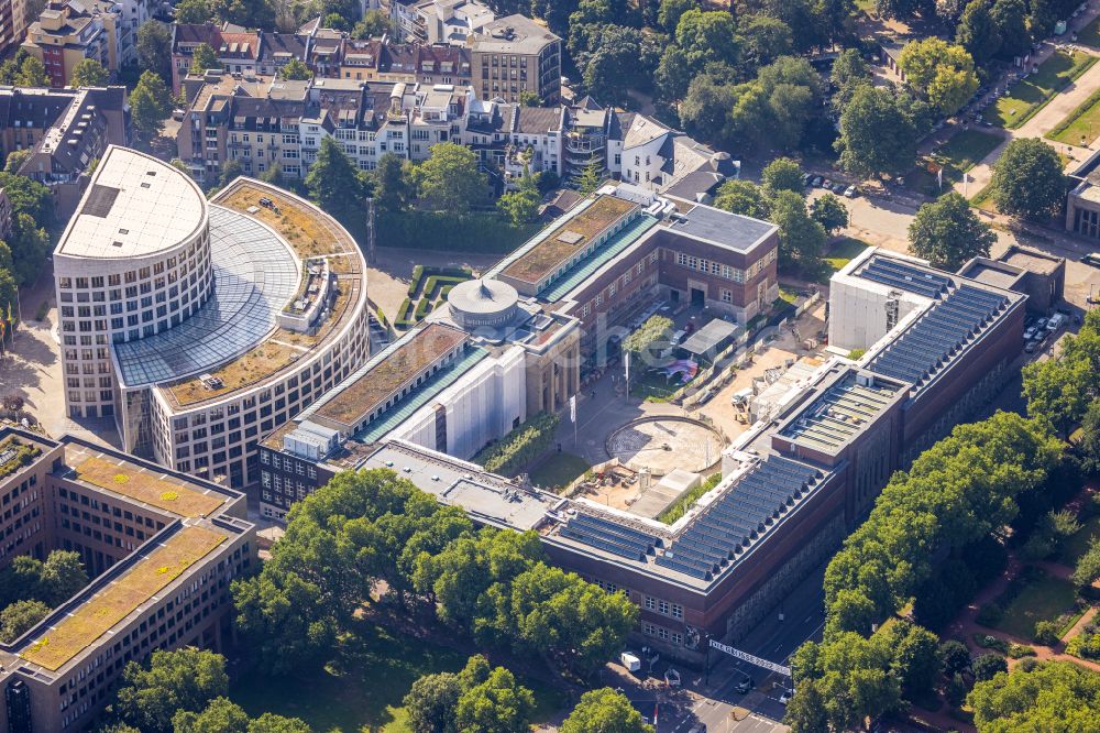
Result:
M206 197L190 176L157 158L111 145L57 245L57 254L117 260L186 240L206 221Z

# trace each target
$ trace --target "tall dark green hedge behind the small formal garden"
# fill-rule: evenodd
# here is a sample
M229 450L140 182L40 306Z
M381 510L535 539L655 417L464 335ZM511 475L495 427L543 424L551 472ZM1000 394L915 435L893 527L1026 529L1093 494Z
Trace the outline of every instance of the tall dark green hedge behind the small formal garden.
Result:
M377 222L381 247L498 254L516 249L538 230L538 225L514 227L495 214L380 211Z

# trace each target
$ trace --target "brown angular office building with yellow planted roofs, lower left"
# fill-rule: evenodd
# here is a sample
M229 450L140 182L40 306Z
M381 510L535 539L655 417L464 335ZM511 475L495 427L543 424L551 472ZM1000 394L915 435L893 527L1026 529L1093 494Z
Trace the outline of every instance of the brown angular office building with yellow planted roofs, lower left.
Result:
M232 643L229 586L257 562L243 493L72 436L0 428L0 566L72 550L92 579L0 644L0 730L87 730L130 661Z

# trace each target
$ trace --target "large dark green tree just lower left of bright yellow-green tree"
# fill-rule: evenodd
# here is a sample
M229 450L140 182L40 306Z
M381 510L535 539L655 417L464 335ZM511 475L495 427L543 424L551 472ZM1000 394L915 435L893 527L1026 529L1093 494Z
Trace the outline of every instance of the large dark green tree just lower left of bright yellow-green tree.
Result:
M860 85L840 114L835 147L845 171L864 176L900 173L916 161L917 135L912 114L894 94Z

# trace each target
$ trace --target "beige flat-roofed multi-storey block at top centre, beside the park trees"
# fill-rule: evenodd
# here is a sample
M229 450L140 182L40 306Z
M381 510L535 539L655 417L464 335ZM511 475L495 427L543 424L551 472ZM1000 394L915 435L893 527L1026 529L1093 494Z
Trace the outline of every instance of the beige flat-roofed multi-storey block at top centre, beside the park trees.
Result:
M473 87L482 100L518 102L525 91L543 105L561 98L561 39L524 15L486 23L466 40Z

